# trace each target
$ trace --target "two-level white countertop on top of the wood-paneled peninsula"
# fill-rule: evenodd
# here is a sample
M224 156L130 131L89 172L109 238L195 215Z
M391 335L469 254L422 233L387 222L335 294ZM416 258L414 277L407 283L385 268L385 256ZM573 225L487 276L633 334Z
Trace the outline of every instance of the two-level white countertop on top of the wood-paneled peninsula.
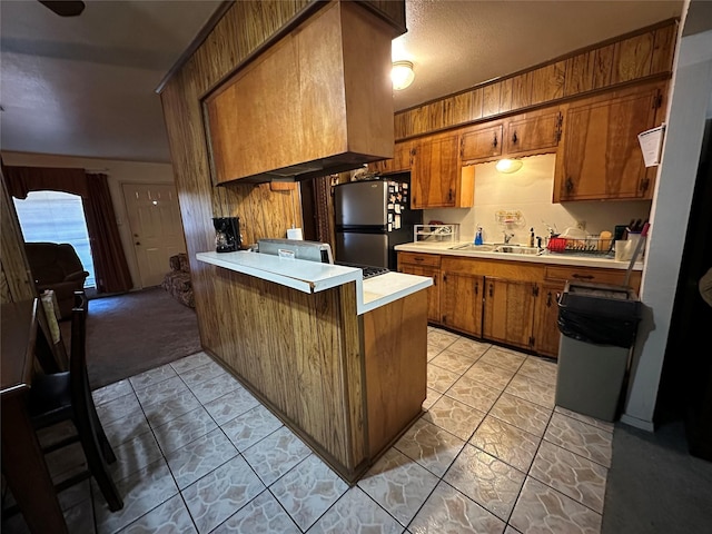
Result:
M303 259L280 258L268 254L240 250L237 253L198 253L198 261L274 281L304 293L318 293L350 281L356 283L356 312L372 309L407 297L433 285L427 276L385 273L364 280L363 271L340 265L319 264Z

